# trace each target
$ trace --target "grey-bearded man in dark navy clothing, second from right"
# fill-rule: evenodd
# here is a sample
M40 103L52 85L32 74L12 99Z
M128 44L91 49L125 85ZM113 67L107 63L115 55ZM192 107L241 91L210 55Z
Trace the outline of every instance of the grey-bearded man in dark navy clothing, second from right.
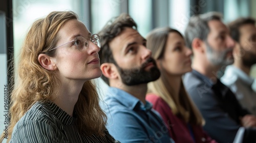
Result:
M217 142L233 142L240 127L256 126L256 117L218 79L218 71L233 63L235 42L229 29L220 13L199 14L189 19L185 39L194 57L193 71L185 75L184 85L203 115L203 128Z

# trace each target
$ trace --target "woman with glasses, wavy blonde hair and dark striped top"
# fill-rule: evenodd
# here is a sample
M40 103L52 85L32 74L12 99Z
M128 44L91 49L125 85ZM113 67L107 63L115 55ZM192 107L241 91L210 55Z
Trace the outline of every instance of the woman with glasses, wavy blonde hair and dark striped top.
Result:
M99 50L72 11L36 20L13 76L8 141L115 142L91 81L102 75Z

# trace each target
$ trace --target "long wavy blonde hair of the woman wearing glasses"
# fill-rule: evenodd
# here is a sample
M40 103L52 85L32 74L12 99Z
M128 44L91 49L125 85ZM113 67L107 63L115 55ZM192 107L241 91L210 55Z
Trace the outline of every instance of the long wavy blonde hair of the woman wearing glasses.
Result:
M58 93L60 81L55 71L43 68L37 57L41 53L55 56L55 47L60 28L71 19L78 19L72 11L51 12L46 18L36 20L30 28L21 48L14 81L10 93L10 124L8 140L15 124L37 101L53 101ZM12 59L13 60L13 59ZM77 114L77 128L82 135L104 135L106 115L99 106L99 97L91 81L83 84L74 111ZM1 140L4 139L2 134Z

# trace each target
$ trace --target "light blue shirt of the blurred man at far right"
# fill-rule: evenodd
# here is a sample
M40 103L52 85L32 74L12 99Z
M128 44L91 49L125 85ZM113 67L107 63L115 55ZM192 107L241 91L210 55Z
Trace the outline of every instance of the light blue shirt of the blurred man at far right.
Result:
M233 65L226 67L225 74L221 78L221 82L230 88L239 103L256 115L256 92L252 89L253 81L252 77Z

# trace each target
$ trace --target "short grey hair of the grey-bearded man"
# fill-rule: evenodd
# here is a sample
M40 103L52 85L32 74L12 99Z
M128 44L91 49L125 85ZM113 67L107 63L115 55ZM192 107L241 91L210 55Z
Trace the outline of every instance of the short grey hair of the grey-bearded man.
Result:
M185 30L185 41L187 46L192 49L192 41L199 38L203 41L207 40L210 33L208 22L210 20L222 20L222 14L219 12L208 12L205 14L194 15L189 19L188 26Z

